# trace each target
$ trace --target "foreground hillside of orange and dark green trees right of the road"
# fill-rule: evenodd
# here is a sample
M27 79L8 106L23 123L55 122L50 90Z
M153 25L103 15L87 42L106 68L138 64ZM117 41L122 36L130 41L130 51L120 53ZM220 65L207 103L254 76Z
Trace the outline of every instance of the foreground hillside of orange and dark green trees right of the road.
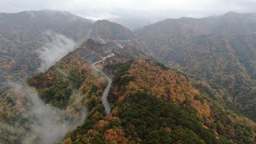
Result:
M103 118L92 109L64 143L254 143L254 122L207 98L183 74L145 59L105 70L114 73L111 113Z

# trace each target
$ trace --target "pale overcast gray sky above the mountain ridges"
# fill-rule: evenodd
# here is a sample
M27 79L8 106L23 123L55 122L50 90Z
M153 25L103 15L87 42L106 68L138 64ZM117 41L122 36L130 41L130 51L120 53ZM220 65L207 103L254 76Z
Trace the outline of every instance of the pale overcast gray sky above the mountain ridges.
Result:
M41 9L66 10L92 19L200 18L228 11L254 12L256 0L0 0L1 12Z

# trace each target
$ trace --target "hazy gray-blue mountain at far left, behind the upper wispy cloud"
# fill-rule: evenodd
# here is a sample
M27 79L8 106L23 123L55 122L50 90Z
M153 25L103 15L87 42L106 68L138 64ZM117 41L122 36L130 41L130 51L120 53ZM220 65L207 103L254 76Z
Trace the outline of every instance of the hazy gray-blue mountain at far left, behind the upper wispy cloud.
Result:
M88 38L93 23L68 12L54 10L1 13L0 19L1 51L17 50L19 45L40 42L46 31L83 40Z

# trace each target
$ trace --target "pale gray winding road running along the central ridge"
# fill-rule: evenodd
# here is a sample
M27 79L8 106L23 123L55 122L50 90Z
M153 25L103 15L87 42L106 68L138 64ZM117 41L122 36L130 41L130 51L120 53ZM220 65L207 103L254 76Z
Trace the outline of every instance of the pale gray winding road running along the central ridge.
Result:
M100 60L100 61L98 61L98 62L94 62L94 63L91 65L91 66L93 66L94 70L100 72L100 73L107 79L107 82L108 82L108 84L107 84L107 86L106 86L106 88L105 88L105 90L104 90L104 93L103 93L103 95L102 95L102 103L103 103L103 106L105 107L105 110L106 110L106 113L107 113L107 114L109 114L109 113L110 113L110 110L111 110L111 109L110 109L110 104L109 104L109 102L107 102L107 96L108 96L108 94L109 94L109 92L110 92L110 86L111 86L111 84L112 84L113 81L112 81L112 79L111 79L109 76L107 76L102 70L98 69L95 65L98 64L98 63L100 63L100 62L105 61L106 58L110 58L110 57L113 57L113 55L107 56L107 57L103 57L102 60Z

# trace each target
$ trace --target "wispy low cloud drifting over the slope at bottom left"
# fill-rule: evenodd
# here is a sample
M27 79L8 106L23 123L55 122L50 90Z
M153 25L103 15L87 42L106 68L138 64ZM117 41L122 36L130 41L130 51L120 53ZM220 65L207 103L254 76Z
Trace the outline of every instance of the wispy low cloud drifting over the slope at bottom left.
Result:
M65 117L64 110L46 105L46 103L38 98L37 92L30 88L30 86L13 82L9 82L9 85L14 91L13 99L17 101L17 99L22 98L15 97L23 97L28 100L28 102L26 102L26 113L22 114L22 118L29 120L29 123L27 123L29 131L26 132L22 140L24 144L49 144L58 142L62 140L70 130L81 125L86 118L86 110L82 110L78 120L70 121L70 118L63 118Z

